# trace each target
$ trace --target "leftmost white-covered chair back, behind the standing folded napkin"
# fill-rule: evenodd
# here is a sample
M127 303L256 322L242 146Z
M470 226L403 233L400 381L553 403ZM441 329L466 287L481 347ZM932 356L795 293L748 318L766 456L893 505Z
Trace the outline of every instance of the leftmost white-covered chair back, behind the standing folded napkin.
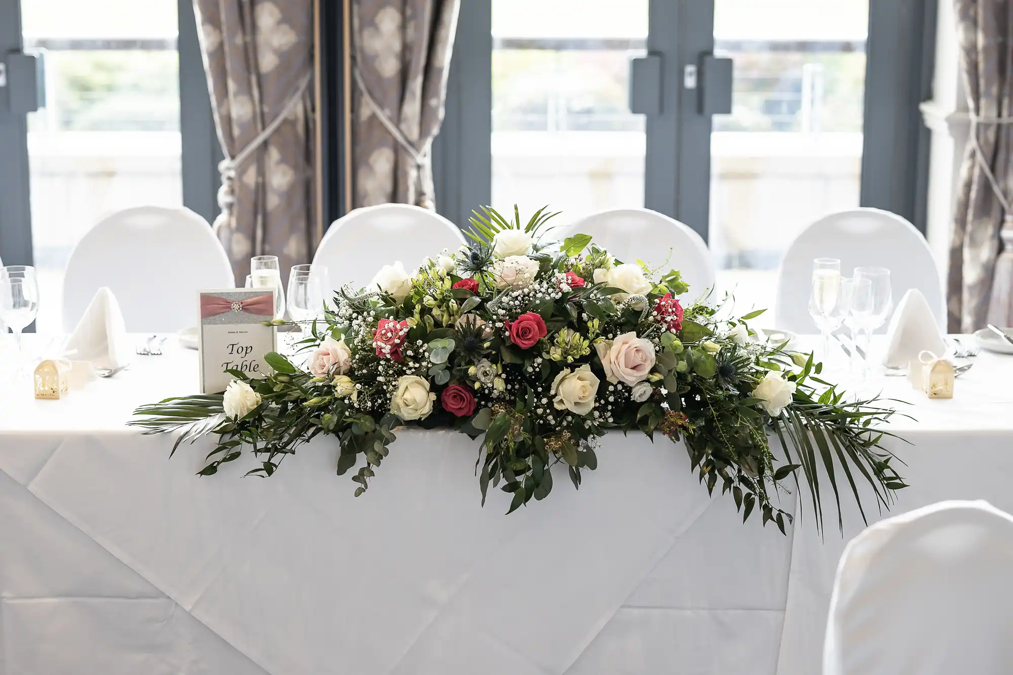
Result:
M197 325L198 291L234 288L225 249L189 209L137 207L106 216L74 247L64 277L63 323L73 330L107 286L130 332Z

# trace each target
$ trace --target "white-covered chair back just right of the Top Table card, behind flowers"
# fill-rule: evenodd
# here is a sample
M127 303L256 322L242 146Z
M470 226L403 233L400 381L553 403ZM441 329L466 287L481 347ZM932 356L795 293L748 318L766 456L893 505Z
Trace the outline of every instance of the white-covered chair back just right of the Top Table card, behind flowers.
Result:
M385 265L400 260L410 274L428 255L465 242L454 223L410 204L380 204L349 211L333 222L317 246L314 265L327 268L334 288L362 288Z

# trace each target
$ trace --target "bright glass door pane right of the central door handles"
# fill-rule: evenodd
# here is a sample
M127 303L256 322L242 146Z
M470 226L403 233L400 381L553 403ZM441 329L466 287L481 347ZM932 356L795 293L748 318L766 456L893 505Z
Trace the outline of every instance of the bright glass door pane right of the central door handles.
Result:
M712 121L708 243L736 304L769 306L799 231L859 206L868 16L868 0L714 1L714 53L734 68L732 113Z

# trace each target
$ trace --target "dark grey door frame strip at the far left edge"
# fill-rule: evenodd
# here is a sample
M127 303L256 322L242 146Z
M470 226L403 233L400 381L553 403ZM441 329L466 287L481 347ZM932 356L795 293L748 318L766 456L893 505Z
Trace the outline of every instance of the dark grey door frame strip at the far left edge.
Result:
M0 62L22 47L20 0L0 0ZM27 122L10 111L9 92L0 87L0 259L31 265Z

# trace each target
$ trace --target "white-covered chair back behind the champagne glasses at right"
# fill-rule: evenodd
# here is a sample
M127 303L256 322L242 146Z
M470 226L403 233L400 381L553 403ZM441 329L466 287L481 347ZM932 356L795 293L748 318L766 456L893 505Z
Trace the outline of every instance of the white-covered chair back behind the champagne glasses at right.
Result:
M815 332L808 311L815 257L839 258L845 277L856 267L888 269L894 306L908 289L917 288L928 300L936 323L945 329L942 276L925 237L901 216L867 208L825 216L788 246L777 277L775 324L779 328ZM878 332L884 330L885 326Z

